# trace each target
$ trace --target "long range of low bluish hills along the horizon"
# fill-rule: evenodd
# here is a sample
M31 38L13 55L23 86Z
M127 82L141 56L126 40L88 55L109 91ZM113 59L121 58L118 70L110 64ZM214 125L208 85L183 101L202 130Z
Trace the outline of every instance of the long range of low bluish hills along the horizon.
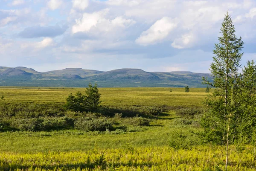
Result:
M0 86L87 87L97 82L99 87L205 87L202 76L194 72L146 72L140 69L118 69L107 72L66 68L38 72L26 67L0 67Z

